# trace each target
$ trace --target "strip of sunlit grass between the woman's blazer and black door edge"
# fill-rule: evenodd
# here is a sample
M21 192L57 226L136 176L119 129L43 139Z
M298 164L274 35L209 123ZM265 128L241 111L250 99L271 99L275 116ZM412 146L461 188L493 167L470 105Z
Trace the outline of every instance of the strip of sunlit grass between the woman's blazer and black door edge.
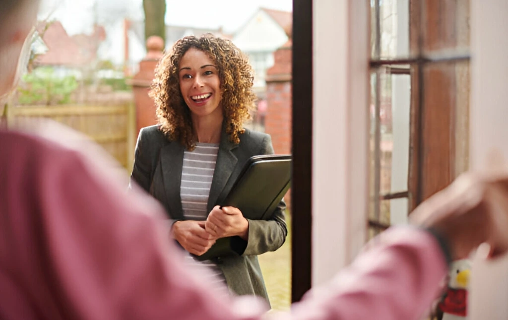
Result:
M291 217L286 213L288 236L274 252L259 256L272 309L289 310L291 305Z

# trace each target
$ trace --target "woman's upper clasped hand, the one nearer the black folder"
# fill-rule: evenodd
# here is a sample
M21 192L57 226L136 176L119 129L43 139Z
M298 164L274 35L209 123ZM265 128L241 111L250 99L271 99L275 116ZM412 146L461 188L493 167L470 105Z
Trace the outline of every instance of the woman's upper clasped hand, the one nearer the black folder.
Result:
M238 208L215 206L205 224L206 231L216 238L240 236L248 239L249 222Z

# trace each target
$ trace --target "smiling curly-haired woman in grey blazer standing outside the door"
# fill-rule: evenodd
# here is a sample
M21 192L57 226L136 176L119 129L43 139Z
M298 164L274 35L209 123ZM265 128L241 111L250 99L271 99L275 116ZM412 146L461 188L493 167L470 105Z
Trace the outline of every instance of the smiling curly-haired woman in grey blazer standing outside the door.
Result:
M192 266L212 272L218 291L268 300L258 255L277 250L287 227L282 201L267 220L219 207L247 160L271 154L269 135L244 129L255 104L247 57L229 40L185 37L155 70L158 125L143 128L131 180L166 208L174 239ZM199 261L219 238L234 255Z

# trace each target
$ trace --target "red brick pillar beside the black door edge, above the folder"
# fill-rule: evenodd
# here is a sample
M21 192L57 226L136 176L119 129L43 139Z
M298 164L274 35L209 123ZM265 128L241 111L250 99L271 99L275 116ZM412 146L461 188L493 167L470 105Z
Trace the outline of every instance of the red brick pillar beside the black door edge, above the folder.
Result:
M292 153L291 60L292 42L289 40L274 52L274 65L266 72L268 108L265 117L265 132L272 137L273 149L277 154ZM290 192L284 199L289 207Z

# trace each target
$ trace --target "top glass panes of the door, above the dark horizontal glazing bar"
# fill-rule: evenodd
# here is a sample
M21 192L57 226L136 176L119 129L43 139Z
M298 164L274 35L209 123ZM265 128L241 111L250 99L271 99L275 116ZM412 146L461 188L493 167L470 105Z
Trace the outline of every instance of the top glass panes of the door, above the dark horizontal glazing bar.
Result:
M423 54L468 54L468 0L371 0L370 6L373 59L417 56L420 38Z

